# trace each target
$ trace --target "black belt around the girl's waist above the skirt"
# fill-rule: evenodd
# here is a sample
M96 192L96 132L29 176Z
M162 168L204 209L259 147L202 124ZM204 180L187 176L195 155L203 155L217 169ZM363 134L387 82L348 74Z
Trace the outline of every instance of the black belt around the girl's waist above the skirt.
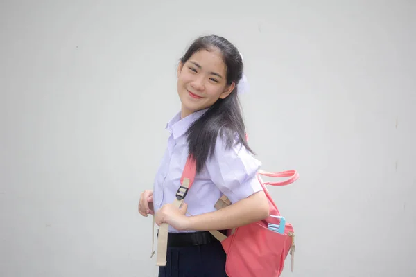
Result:
M226 233L226 231L220 232L223 234ZM159 235L159 231L157 233ZM190 247L213 242L218 242L218 240L209 231L168 233L168 247Z

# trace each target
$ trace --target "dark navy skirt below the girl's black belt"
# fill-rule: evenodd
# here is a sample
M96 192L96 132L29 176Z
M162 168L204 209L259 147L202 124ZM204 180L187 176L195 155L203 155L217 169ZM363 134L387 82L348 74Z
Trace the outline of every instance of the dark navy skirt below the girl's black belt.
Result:
M225 251L220 242L185 247L168 247L166 266L159 277L227 277Z

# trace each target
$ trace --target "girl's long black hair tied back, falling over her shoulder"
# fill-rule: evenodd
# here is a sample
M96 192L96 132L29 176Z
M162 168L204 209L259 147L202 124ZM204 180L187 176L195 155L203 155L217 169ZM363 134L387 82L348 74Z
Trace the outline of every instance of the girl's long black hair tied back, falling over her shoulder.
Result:
M189 46L180 62L184 64L200 50L213 51L216 49L222 53L223 62L227 67L227 85L232 82L237 84L243 75L243 59L237 48L224 37L217 35L199 37ZM214 154L218 134L223 136L226 148L231 148L236 142L241 143L253 153L245 139L245 125L241 114L237 85L229 96L218 99L187 130L189 156L196 160L197 172L204 168L207 159Z

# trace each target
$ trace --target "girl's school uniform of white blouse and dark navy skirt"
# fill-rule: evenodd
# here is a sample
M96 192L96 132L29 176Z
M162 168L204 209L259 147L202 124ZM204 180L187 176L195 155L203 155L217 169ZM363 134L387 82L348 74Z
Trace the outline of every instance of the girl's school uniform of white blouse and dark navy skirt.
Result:
M206 111L196 111L182 119L178 113L167 123L166 129L171 135L153 186L155 213L164 204L173 203L189 153L185 133ZM260 166L243 145L226 150L225 141L218 136L214 156L196 175L184 199L188 204L187 213L216 211L214 205L221 195L235 203L261 191L256 176ZM166 260L166 266L159 267L159 276L227 276L223 247L208 231L178 231L169 226Z

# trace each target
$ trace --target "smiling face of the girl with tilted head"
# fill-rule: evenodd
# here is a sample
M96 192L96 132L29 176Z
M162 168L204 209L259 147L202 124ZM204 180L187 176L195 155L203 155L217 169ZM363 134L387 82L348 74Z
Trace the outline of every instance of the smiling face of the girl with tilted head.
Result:
M181 118L211 107L216 100L229 96L234 87L234 82L227 85L227 66L218 49L197 51L177 69Z

